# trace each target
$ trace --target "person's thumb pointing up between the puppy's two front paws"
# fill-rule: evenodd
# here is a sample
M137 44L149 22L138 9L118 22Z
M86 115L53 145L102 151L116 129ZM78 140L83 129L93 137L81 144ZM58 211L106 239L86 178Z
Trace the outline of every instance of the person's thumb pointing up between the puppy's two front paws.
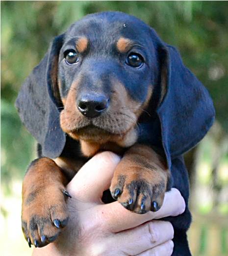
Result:
M114 170L121 158L112 152L96 154L78 171L67 189L72 197L82 202L101 202L108 189Z

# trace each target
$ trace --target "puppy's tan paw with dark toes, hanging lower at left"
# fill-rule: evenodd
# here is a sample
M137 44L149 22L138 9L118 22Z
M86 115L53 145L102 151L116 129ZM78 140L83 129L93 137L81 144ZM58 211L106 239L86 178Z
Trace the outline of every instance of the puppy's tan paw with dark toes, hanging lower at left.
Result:
M68 221L69 196L63 187L52 185L28 193L22 205L22 230L29 247L43 247L57 238Z

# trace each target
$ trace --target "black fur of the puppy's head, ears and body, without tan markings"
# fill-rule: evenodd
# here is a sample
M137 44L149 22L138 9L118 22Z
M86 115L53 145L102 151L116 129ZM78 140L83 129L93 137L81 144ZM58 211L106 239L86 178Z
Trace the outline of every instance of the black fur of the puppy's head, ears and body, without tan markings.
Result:
M80 36L89 39L88 47L79 55L78 65L69 67L64 60L64 51L75 49ZM120 37L135 42L132 51L144 57L142 68L126 65L126 54L115 48ZM112 91L110 76L121 80L136 102L144 102L148 88L152 88L147 112L143 112L138 120L137 142L155 147L166 157L173 187L181 192L186 203L184 213L165 218L175 229L173 256L191 255L186 236L191 222L189 185L182 154L203 138L214 121L214 107L207 90L183 65L178 51L164 43L142 21L120 12L88 15L53 40L44 59L25 81L16 102L23 123L41 145L40 155L50 158L61 155L87 160L80 153L78 142L66 136L59 125L61 103L53 94L56 81L51 77L56 56L61 97L67 95L78 76L81 77L78 95L86 90L109 95ZM161 99L162 76L166 76L164 99ZM104 193L103 201L112 201L108 192Z

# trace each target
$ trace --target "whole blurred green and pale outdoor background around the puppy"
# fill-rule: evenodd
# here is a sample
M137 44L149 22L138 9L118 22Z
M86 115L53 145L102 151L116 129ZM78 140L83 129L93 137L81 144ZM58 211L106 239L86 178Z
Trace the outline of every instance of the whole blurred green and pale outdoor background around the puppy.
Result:
M84 15L106 10L154 27L213 98L215 124L185 155L193 213L189 241L194 256L228 255L228 1L1 1L0 254L31 254L21 231L21 186L36 153L14 107L18 90L54 36Z

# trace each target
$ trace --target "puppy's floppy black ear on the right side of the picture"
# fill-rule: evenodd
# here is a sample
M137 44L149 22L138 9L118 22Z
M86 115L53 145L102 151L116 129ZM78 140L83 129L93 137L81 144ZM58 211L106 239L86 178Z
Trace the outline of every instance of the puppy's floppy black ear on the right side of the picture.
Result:
M161 48L161 95L157 108L162 143L171 159L194 147L214 121L213 102L203 84L183 65L178 51Z

